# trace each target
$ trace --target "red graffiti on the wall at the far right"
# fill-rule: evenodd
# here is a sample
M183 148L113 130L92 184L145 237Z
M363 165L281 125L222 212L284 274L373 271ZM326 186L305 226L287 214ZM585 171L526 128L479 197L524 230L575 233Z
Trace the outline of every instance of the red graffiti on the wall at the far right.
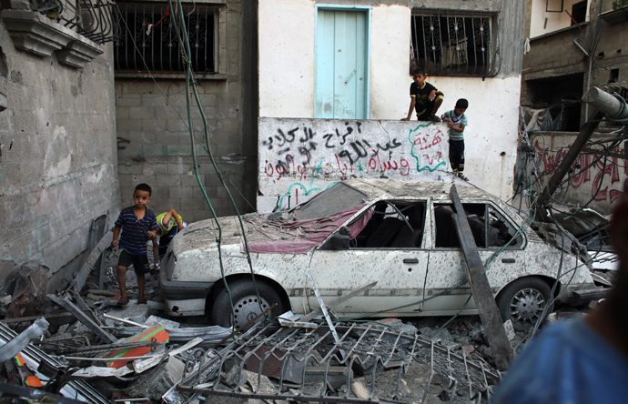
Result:
M567 149L543 149L538 140L534 142L534 147L543 177L549 178L567 154ZM613 152L622 154L623 149L617 148ZM623 195L623 189L627 186L628 166L624 159L618 157L606 157L604 160L604 157L581 153L570 173L569 188L577 195L572 199L582 204L593 199L608 202L610 207L615 199Z

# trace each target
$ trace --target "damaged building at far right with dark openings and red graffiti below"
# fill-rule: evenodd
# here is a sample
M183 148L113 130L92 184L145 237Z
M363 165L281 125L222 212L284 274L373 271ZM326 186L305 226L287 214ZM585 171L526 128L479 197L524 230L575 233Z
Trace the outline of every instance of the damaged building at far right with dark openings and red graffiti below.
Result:
M540 173L548 179L593 114L582 95L592 86L627 95L628 2L528 0L526 10L522 106L528 129L534 129L529 137ZM562 201L610 213L628 178L621 127L610 121L598 126L597 152L578 158L564 178Z

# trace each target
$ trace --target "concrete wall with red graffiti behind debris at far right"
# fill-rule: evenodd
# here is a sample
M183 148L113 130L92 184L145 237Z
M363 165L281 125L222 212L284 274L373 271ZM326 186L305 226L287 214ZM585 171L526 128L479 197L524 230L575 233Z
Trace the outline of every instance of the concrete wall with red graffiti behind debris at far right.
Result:
M553 170L558 167L576 136L577 134L565 132L543 132L532 136L532 146L536 149L537 162L545 184L552 177ZM602 138L608 136L597 134L593 135L592 140ZM623 145L613 151L622 155ZM608 215L611 213L613 202L623 195L623 190L628 186L628 166L623 158L609 157L606 166L603 164L603 158L593 164L596 159L595 155L581 154L574 167L585 169L582 172L576 169L570 175L569 185L559 188L554 197L575 207L582 207L588 203L587 207ZM592 166L588 167L589 165Z

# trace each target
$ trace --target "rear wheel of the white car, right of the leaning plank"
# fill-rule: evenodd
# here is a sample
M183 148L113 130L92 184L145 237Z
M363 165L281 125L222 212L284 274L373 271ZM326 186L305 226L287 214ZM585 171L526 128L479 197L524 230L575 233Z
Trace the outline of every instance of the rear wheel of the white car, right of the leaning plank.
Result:
M508 284L497 297L497 307L500 309L501 319L512 321L515 331L525 331L533 327L541 318L542 324L547 315L552 312L552 289L541 278L522 278Z

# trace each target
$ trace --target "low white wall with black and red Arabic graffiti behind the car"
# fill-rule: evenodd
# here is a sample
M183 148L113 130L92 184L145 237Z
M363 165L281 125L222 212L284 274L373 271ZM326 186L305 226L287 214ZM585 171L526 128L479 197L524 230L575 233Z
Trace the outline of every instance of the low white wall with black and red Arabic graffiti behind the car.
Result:
M430 122L262 118L259 190L286 208L348 178L417 179L446 168L447 139Z

